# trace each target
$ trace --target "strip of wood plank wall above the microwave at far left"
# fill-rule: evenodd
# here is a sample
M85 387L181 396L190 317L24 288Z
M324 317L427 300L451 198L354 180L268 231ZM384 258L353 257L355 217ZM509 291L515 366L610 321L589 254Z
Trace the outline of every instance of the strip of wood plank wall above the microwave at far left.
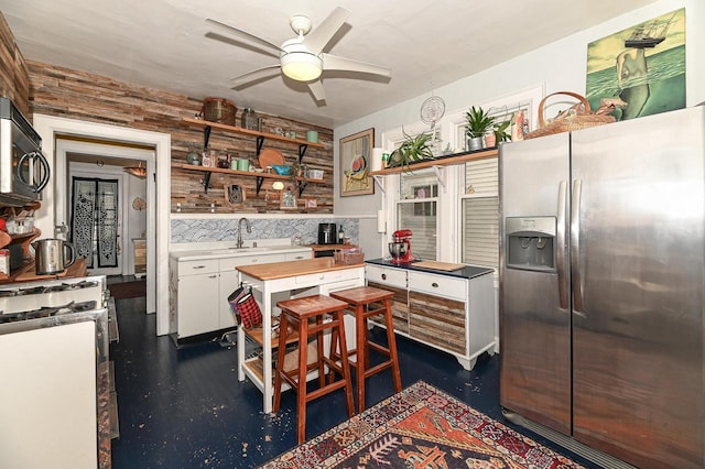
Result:
M14 35L0 12L0 96L10 98L20 112L30 116L30 74Z

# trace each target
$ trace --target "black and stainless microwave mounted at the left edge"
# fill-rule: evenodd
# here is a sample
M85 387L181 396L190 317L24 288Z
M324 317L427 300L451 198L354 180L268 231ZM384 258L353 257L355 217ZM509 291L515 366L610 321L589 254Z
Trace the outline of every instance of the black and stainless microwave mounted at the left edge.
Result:
M0 98L0 204L41 200L50 179L42 138L8 98Z

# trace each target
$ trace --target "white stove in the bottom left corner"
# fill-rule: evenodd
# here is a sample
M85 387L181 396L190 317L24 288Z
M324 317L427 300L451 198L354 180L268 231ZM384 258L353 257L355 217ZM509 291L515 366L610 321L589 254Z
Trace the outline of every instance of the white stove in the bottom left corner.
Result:
M110 467L108 297L105 276L0 285L0 467Z

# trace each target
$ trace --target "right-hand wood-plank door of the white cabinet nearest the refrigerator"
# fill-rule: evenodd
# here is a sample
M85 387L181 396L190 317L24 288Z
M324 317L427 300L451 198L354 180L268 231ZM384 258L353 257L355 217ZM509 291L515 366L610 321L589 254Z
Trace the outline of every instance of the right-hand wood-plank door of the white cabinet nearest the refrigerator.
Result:
M415 339L466 355L465 317L465 302L409 292L409 334Z

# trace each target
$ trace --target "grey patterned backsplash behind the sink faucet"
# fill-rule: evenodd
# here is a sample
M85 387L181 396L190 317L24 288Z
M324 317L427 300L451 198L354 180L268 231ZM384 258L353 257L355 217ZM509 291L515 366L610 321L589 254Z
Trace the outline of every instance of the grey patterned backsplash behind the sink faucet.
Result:
M238 238L238 220L232 219L175 219L172 220L172 242L213 242L235 241ZM345 236L350 242L357 243L359 239L359 220L357 218L282 218L257 219L252 218L250 226L252 232L245 231L242 223L242 238L246 240L288 238L300 236L304 244L318 242L318 223L343 225Z

